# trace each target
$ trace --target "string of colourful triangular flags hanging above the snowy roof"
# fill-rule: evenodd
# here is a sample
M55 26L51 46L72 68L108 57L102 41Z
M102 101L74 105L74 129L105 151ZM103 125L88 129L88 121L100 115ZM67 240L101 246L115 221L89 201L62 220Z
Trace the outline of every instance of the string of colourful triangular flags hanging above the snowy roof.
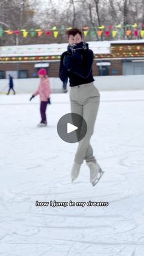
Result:
M59 29L54 26L51 29L43 30L43 29L18 29L18 30L4 30L2 27L0 27L0 37L2 35L22 35L23 37L28 37L29 35L31 37L41 37L41 35L54 36L54 38L57 38L60 34L65 34L65 31L68 29L71 29L72 27L60 27ZM127 24L123 26L122 24L118 24L115 26L98 26L98 27L81 27L84 37L87 37L90 35L91 37L95 37L96 35L98 37L101 37L104 35L104 37L112 37L115 38L117 35L120 37L123 37L123 35L126 35L128 38L135 37L135 38L143 38L144 37L144 24Z

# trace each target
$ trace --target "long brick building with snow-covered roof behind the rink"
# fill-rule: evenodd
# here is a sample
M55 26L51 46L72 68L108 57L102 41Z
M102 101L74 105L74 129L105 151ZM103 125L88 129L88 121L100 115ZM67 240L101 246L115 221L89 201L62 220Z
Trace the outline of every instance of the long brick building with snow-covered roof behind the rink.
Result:
M88 42L94 53L94 76L144 75L144 40ZM60 55L67 43L0 47L0 79L37 78L45 67L50 78L59 77Z

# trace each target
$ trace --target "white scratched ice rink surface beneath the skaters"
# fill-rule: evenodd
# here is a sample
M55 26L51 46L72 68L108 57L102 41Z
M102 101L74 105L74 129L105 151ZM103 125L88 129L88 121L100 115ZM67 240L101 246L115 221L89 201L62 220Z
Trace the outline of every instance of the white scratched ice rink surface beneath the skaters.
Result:
M46 128L37 128L39 99L0 95L0 255L142 256L144 250L144 91L101 92L92 136L105 174L89 170L71 183L77 144L63 142L57 122L68 94L52 94ZM109 202L108 207L36 207L35 201Z

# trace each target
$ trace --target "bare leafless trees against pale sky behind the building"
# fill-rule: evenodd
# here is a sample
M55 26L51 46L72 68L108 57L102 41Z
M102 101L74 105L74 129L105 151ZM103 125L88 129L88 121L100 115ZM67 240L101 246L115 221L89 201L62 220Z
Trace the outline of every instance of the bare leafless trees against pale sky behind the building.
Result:
M3 29L43 29L50 30L51 36L44 32L40 37L26 37L3 34L0 37L1 45L15 43L52 43L65 42L65 29L67 27L93 27L95 35L87 34L87 40L99 40L97 31L99 26L121 24L120 32L126 37L126 30L134 28L131 24L144 23L143 0L1 0L0 2L0 26ZM128 26L129 24L129 26ZM54 37L52 27L57 27L59 36ZM107 29L107 28L106 28ZM108 29L110 29L108 27ZM142 29L138 26L137 29ZM29 32L29 35L31 33ZM117 35L120 38L121 35ZM19 42L16 41L19 39ZM101 40L105 39L100 37ZM110 40L112 36L107 37ZM131 38L134 35L131 34Z

